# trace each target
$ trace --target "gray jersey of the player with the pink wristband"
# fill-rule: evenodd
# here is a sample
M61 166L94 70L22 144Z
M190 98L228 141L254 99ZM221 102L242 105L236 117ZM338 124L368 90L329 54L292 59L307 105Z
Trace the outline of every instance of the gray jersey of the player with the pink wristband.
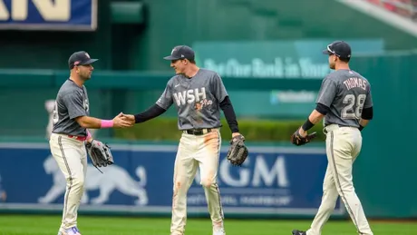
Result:
M89 115L87 89L68 79L56 95L53 109L53 133L87 136L85 128L78 124L75 118Z

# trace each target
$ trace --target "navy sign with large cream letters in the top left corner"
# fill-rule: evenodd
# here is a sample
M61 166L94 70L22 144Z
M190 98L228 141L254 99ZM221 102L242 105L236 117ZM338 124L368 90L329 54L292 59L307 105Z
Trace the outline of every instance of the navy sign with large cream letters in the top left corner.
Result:
M0 30L94 31L98 0L0 0Z

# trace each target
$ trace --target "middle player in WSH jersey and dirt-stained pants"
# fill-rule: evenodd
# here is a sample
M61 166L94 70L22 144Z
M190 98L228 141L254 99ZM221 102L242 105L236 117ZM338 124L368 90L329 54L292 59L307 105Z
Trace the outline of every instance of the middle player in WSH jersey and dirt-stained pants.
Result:
M194 61L194 51L189 46L174 47L170 56L164 59L171 61L170 66L177 74L170 79L160 99L150 109L126 117L132 123L145 122L164 113L174 104L178 111L178 128L182 131L182 136L173 176L170 234L184 234L187 192L199 168L213 235L225 235L216 179L221 146L220 109L225 113L232 136L240 134L232 103L218 73L199 68Z

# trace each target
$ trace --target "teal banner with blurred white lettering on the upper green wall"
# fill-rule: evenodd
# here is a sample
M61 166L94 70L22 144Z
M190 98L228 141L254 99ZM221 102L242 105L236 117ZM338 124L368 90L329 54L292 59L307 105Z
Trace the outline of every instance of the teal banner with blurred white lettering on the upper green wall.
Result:
M323 79L331 70L322 54L327 40L196 42L196 61L226 77ZM382 39L348 40L354 55L380 54ZM357 53L360 52L360 53Z

